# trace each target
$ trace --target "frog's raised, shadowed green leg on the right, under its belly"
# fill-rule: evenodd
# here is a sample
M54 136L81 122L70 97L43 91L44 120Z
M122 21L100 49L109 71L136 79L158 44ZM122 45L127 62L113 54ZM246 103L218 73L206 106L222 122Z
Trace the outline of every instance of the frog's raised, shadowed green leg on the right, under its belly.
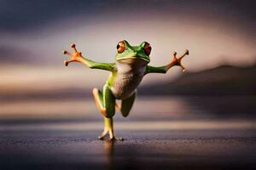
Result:
M123 99L121 106L116 105L116 107L120 109L123 116L126 117L129 115L129 113L131 111L131 107L132 107L135 99L136 99L136 91L133 94L131 94L131 96L129 98Z

